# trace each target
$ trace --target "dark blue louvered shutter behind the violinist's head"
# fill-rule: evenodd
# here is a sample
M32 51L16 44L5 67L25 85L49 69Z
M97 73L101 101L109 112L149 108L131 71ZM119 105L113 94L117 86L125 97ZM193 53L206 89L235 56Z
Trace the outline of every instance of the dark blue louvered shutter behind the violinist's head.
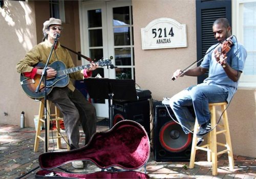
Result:
M204 57L210 46L218 41L212 33L212 24L217 18L226 17L231 26L231 1L213 1L213 0L196 0L196 18L197 18L197 59ZM198 63L198 66L201 62ZM202 83L208 76L198 77L198 83Z

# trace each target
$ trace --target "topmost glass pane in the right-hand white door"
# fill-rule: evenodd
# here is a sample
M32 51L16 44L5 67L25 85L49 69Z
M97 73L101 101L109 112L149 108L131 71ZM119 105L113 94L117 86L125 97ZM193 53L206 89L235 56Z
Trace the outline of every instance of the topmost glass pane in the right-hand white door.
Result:
M122 26L130 24L129 6L113 8L113 26Z

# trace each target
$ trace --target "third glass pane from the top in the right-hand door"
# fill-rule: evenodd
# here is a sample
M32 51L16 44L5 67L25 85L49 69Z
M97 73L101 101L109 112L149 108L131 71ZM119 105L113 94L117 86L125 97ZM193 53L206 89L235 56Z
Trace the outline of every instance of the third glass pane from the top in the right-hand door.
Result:
M132 65L131 64L131 48L116 48L115 64L119 66Z

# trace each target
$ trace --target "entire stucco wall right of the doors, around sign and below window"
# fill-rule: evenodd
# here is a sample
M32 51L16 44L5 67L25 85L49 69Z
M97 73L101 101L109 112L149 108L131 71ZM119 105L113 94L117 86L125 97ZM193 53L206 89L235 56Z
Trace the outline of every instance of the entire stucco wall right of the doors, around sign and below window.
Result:
M187 68L197 58L196 1L134 0L132 3L136 83L150 89L154 100L172 97L183 88L197 84L196 77L170 80L175 70ZM140 29L160 17L186 24L187 48L142 50ZM239 89L227 109L234 154L256 156L255 94L255 90Z

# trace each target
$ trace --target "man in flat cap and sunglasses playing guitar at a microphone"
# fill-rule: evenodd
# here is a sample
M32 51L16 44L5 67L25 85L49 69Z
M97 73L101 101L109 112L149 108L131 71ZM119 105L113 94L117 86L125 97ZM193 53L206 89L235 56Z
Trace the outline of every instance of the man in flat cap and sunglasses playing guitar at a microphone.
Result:
M38 62L47 62L54 40L57 38L56 34L60 36L61 31L62 27L60 19L50 18L45 21L42 29L44 34L42 42L27 52L25 58L17 63L17 72L23 73L24 76L31 79L34 79L36 75L41 75L43 70L34 68L34 66ZM62 48L59 41L57 41L57 44L54 47L49 64L57 60L65 63L67 69L74 67L74 63L68 50ZM98 65L92 62L89 69L71 73L69 76L75 80L81 80L91 76L92 71L97 68ZM53 68L48 68L48 78L55 77L56 74L57 72ZM71 81L69 81L69 84L66 87L54 87L50 94L48 94L48 100L52 101L63 114L65 131L69 139L71 150L79 148L79 121L86 134L85 143L87 144L93 133L96 132L95 107L86 100L86 98L74 87ZM83 168L82 161L72 162L72 165L75 168Z

